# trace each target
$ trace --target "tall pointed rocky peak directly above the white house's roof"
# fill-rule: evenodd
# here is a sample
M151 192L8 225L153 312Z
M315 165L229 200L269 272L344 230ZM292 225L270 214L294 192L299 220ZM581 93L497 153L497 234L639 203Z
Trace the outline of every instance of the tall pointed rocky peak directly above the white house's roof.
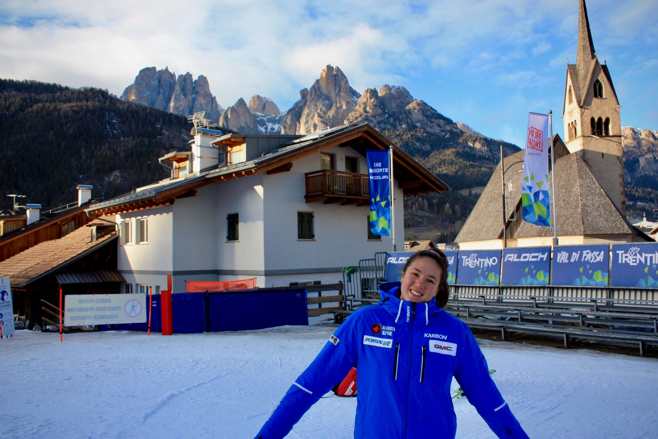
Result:
M299 91L300 99L284 116L281 132L311 134L340 126L355 109L360 96L349 86L347 77L338 66L327 65L309 90Z

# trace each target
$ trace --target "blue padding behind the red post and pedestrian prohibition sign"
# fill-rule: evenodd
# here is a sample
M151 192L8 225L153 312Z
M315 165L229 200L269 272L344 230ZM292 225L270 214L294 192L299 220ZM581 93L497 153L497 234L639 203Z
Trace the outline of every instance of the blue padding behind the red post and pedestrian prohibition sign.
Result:
M174 333L195 334L206 330L206 294L180 293L171 295L172 321ZM149 296L146 297L148 311ZM162 332L162 315L160 295L153 294L153 313L151 314L151 331ZM148 316L148 315L147 315ZM146 323L125 323L102 325L101 330L130 330L146 331L149 328L148 317Z

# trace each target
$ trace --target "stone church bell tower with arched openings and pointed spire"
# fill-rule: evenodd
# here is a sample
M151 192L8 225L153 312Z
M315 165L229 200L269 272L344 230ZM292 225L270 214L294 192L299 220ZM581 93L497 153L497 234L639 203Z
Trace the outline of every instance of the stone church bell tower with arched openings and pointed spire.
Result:
M597 59L585 0L578 3L578 51L576 64L567 65L563 107L565 145L590 166L601 188L625 216L620 105L608 67Z

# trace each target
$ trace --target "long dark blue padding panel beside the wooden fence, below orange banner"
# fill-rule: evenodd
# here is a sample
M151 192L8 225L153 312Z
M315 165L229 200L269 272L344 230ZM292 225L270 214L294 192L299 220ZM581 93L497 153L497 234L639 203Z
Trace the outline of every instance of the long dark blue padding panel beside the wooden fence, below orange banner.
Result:
M307 290L210 292L208 309L209 332L309 324Z

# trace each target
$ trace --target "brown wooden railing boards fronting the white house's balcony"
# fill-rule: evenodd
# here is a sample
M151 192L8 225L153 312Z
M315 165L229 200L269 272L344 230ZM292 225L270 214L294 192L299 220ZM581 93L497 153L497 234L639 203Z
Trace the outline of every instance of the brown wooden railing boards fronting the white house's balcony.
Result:
M306 195L343 195L347 197L370 196L368 176L337 170L307 172Z

